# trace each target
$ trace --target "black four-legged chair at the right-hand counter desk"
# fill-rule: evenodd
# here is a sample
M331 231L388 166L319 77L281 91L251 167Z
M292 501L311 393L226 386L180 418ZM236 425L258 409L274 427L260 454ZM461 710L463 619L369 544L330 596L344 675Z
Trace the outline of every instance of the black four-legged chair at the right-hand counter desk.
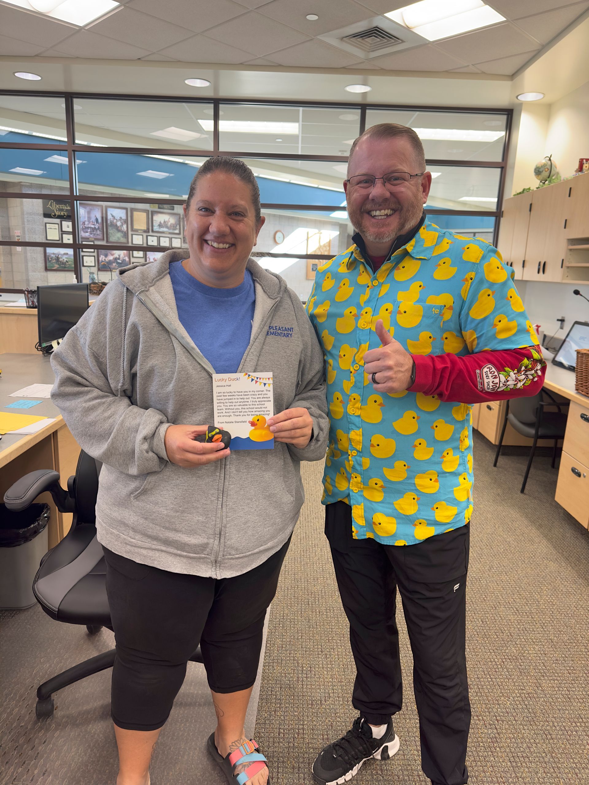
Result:
M544 396L548 400L544 400ZM501 429L501 436L499 436L499 444L497 445L493 466L497 466L501 445L503 444L503 436L505 436L505 429L507 428L507 422L509 422L512 428L521 433L521 436L527 436L533 440L529 451L528 466L525 467L524 480L519 491L523 493L525 484L528 482L529 470L532 467L532 460L539 439L554 439L551 464L554 469L558 440L565 438L566 414L562 413L561 407L569 406L569 401L561 403L555 400L547 390L540 390L536 395L529 398L512 398L507 400L506 403L503 428ZM557 407L558 411L546 411L545 407L547 406Z

